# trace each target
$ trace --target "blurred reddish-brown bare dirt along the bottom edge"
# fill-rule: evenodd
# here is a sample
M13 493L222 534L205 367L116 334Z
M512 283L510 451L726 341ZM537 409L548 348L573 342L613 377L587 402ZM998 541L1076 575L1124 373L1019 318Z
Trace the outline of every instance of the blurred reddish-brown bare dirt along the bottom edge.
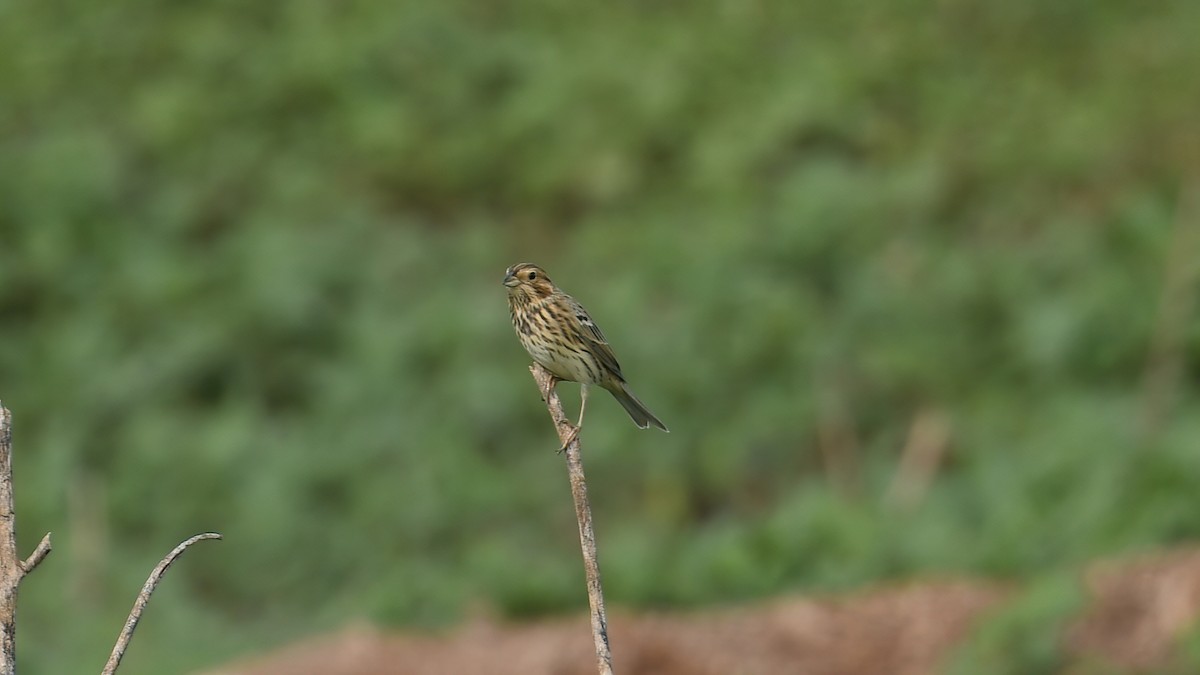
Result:
M1063 633L1064 673L1162 673L1200 614L1200 549L1102 562ZM914 583L835 598L780 598L698 614L613 613L622 675L923 675L1019 587ZM1180 670L1182 671L1182 670ZM446 635L349 627L208 675L590 675L587 617L476 621Z

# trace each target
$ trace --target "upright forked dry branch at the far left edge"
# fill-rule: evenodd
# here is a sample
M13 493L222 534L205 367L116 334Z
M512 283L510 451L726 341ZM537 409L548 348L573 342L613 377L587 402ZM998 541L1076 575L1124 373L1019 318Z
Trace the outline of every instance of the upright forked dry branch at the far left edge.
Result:
M12 500L12 413L0 402L0 675L17 671L17 585L50 552L42 537L24 562L17 557L17 516Z

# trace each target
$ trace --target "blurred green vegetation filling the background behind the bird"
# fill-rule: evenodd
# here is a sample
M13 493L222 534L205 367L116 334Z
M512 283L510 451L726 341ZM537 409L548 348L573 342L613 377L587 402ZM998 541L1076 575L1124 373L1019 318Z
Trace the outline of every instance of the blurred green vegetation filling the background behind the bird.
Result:
M588 413L616 605L1196 539L1196 25L1186 0L0 0L0 398L22 550L55 534L25 669L98 668L204 530L122 671L582 610L518 261L672 429Z

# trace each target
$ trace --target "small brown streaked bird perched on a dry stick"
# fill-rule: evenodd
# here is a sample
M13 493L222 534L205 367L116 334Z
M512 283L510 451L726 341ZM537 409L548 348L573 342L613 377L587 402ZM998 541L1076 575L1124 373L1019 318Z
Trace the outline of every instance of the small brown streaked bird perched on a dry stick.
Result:
M580 383L580 422L563 448L583 428L588 384L607 389L638 429L653 424L668 431L629 390L620 364L600 327L592 321L583 305L554 286L545 270L532 263L515 264L505 270L504 286L509 289L509 311L521 346L558 380Z

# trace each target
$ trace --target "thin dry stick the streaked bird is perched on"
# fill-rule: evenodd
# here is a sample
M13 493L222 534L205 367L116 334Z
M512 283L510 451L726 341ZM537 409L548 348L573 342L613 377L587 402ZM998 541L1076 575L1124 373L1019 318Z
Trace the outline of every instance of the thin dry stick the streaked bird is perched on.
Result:
M529 366L546 410L554 422L560 442L566 443L575 426L563 412L563 402L554 390L554 377L538 364ZM596 647L596 667L600 675L612 675L612 652L608 649L608 620L604 611L604 590L600 587L600 562L596 555L596 536L592 528L592 506L588 504L588 484L583 479L583 460L580 456L580 437L566 446L566 472L571 479L571 496L575 498L575 516L580 521L580 548L583 549L583 571L588 579L588 605L592 608L592 639Z

